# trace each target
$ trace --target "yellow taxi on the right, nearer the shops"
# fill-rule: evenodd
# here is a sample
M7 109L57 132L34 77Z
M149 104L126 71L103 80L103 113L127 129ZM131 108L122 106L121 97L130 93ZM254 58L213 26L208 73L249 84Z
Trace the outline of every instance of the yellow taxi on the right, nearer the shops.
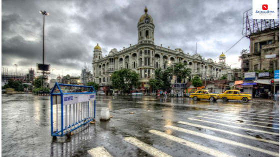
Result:
M239 90L227 90L222 94L218 95L222 101L228 100L242 100L242 102L247 102L252 99L251 94L241 93Z

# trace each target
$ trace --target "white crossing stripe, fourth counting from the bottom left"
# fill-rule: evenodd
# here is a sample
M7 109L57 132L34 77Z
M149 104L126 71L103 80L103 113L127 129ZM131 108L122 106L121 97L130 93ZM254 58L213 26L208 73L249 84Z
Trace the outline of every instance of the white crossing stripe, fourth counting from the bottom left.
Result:
M194 132L194 131L191 131L191 130L182 129L182 128L178 128L178 127L174 127L174 126L165 126L165 127L169 128L169 129L176 130L176 131L180 131L180 132L183 132L183 133L187 133L187 134L190 134L190 135L195 135L195 136L199 136L199 137L202 137L202 138L205 138L205 139L213 140L213 141L216 141L216 142L221 142L221 143L228 144L228 145L243 147L243 148L250 149L250 150L253 150L253 151L258 151L258 152L261 152L261 153L265 153L265 154L268 154L268 155L271 155L271 156L274 156L274 157L279 157L279 154L276 153L276 152L263 150L263 149L260 149L260 148L257 148L257 147L253 147L253 146L249 146L249 145L246 145L246 144L238 143L236 141L219 138L219 137L212 136L212 135L202 134L202 133L198 133L198 132Z

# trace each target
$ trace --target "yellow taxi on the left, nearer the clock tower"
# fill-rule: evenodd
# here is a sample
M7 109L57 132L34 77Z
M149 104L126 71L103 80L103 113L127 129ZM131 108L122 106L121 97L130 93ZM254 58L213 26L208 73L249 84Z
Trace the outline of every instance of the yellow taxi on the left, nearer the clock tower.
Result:
M210 93L208 90L197 90L194 93L190 93L189 97L193 100L208 99L210 101L216 101L218 94Z

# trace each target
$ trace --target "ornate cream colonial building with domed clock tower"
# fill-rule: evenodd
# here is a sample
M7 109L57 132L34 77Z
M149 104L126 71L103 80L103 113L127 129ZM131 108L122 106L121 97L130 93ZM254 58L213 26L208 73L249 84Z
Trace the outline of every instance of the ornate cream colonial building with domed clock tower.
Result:
M145 13L137 24L137 44L123 47L121 51L114 48L105 57L102 57L102 50L98 44L94 47L92 75L93 81L99 83L99 86L108 86L111 73L123 68L139 73L141 82L148 82L149 78L153 78L154 69L164 70L174 63L185 63L186 67L191 69L191 78L198 75L201 79L205 79L206 76L208 80L216 80L223 74L230 73L230 66L225 64L224 54L219 56L219 62L216 63L210 58L202 58L199 54L185 54L180 48L172 50L155 45L154 23L147 11L145 8Z

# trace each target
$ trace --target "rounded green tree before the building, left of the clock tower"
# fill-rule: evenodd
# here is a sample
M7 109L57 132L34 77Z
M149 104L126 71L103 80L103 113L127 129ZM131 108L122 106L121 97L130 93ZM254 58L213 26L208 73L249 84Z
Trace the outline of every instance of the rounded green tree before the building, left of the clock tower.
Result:
M139 86L139 74L129 69L114 71L111 76L114 89L128 91L132 87Z

